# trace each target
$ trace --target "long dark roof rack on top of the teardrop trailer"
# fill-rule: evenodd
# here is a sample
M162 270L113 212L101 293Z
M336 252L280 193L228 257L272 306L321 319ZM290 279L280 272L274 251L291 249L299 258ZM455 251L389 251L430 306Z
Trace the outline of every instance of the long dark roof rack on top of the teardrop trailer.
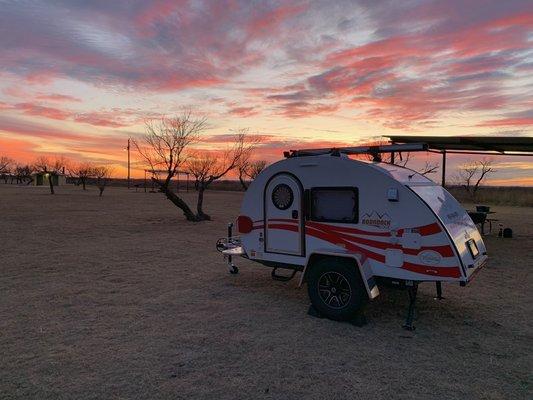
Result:
M283 155L285 158L291 157L307 157L320 156L331 154L332 156L340 156L341 154L371 154L374 160L379 161L381 153L401 153L404 151L427 151L427 143L408 143L408 144L387 144L379 146L355 146L355 147L330 147L323 149L302 149L285 151Z

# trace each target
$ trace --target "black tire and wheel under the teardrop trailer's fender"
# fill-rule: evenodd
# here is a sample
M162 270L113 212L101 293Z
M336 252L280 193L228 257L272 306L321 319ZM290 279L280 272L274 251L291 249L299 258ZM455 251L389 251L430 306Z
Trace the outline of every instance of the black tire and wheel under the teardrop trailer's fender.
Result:
M368 295L355 261L322 258L310 267L307 291L315 309L335 321L356 318Z

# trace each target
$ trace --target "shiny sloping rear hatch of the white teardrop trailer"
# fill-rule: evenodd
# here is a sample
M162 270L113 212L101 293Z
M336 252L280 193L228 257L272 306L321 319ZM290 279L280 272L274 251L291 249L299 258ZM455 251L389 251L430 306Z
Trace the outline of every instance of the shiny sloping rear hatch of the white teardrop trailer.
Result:
M461 258L463 276L468 281L487 260L485 243L476 225L461 204L443 187L431 184L411 185L409 188L433 210L448 232Z

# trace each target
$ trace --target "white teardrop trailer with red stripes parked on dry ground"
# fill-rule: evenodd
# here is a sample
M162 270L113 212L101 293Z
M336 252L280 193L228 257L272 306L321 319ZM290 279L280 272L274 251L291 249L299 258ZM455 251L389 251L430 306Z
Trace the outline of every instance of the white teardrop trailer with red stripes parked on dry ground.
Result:
M273 268L276 280L301 272L315 315L356 318L378 285L406 288L406 329L414 329L418 284L465 286L487 260L475 224L443 187L380 154L424 144L291 150L257 176L236 219L238 235L217 242L230 272L241 256ZM372 154L373 162L349 158ZM279 275L279 269L292 270Z

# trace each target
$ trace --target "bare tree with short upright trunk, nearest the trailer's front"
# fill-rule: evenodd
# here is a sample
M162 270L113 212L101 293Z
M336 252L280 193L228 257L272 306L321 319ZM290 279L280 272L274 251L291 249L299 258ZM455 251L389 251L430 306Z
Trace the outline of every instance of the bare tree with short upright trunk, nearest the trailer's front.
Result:
M214 181L222 178L232 169L235 169L243 154L249 151L253 144L246 141L246 133L241 131L235 136L233 146L224 151L221 156L213 152L196 154L187 163L187 171L194 176L195 186L198 188L196 213L200 220L210 220L211 217L203 211L205 190Z

